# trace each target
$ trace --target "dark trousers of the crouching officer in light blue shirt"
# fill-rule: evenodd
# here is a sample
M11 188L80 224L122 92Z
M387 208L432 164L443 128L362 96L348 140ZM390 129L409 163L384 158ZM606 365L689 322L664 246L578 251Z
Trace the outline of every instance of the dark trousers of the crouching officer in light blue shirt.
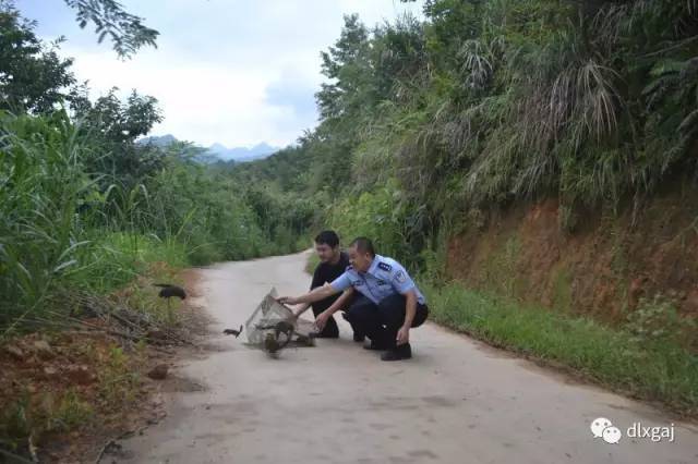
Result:
M383 298L377 305L363 295L358 296L349 307L347 319L354 331L364 333L375 344L395 347L397 332L405 323L406 298L400 294ZM429 308L417 305L412 327L424 323Z

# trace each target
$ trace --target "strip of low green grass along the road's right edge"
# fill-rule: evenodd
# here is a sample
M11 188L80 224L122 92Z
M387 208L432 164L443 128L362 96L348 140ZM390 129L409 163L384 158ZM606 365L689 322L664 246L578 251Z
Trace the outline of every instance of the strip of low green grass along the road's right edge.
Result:
M423 285L433 320L490 344L570 368L634 398L698 414L698 356L677 341L638 337L586 317L521 306L449 283Z

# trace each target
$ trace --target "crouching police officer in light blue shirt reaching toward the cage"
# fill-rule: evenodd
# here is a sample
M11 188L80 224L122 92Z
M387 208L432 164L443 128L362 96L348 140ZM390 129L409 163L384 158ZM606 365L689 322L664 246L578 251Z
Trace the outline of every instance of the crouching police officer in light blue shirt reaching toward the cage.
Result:
M324 327L332 315L352 297L347 319L354 330L371 339L369 350L385 350L383 361L412 357L409 343L410 328L421 326L429 315L424 295L419 291L405 268L395 259L376 255L366 237L358 237L349 247L347 270L332 283L298 297L282 296L281 303L291 305L313 303L329 295L345 293L315 323Z

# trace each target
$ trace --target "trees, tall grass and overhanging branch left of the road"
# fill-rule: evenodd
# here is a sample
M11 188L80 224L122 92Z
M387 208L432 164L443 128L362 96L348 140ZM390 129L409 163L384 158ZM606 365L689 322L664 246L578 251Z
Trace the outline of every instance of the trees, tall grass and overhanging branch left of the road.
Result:
M99 38L107 30L119 56L157 35L116 2L67 3ZM207 264L306 245L308 215L288 196L207 169L191 144L137 143L163 119L157 100L113 88L91 101L60 42L43 42L35 27L0 1L0 334L72 310L71 289L123 285L148 261Z

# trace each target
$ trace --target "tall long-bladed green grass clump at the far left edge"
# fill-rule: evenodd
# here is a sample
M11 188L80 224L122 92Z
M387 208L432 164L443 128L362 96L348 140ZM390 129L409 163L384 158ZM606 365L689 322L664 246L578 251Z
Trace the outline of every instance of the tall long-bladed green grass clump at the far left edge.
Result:
M40 308L88 253L76 215L92 182L76 131L50 120L0 114L0 326Z

